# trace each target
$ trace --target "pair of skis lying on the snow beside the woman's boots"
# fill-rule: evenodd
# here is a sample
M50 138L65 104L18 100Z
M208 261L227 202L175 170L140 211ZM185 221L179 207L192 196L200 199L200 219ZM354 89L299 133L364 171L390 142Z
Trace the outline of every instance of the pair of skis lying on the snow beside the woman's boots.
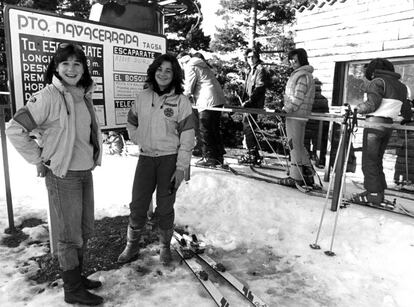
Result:
M230 307L230 303L220 292L217 286L209 279L207 272L204 271L203 266L198 260L201 260L201 263L207 265L218 273L224 280L233 286L233 288L240 292L253 306L268 307L268 305L256 296L249 288L243 285L232 274L227 272L226 268L221 263L217 263L211 257L204 254L205 244L198 241L195 235L180 235L177 231L174 231L173 239L175 241L173 247L177 251L178 255L187 264L199 282L204 286L217 306Z

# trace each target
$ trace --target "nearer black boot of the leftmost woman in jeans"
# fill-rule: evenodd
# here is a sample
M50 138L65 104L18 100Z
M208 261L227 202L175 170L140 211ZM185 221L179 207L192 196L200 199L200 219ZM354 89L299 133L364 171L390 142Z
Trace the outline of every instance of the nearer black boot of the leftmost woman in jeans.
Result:
M65 302L69 304L83 304L83 305L100 305L103 298L99 295L90 293L85 289L79 267L73 270L63 271L63 289L65 293Z

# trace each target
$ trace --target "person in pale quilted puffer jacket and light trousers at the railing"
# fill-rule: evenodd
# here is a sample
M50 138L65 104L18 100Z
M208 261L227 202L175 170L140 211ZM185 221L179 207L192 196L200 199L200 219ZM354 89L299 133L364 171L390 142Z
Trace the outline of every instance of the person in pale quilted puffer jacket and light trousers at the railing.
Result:
M307 152L304 139L306 116L312 111L315 97L315 81L313 79L313 67L309 65L308 55L305 49L293 49L288 53L289 62L293 68L286 84L284 106L282 112L297 116L286 117L286 136L290 149L289 177L284 178L282 184L295 186L314 184L314 170Z

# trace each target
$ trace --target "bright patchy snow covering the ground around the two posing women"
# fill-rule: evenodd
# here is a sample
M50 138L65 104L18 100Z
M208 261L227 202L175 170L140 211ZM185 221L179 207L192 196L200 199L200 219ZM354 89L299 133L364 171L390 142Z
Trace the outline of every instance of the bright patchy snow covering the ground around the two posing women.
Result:
M44 180L35 177L35 167L10 144L8 149L16 225L31 217L46 221ZM136 161L134 156L104 156L103 166L94 171L96 219L129 213ZM4 230L8 219L1 170ZM325 213L322 250L309 247L324 201L291 188L192 168L191 180L177 194L176 223L197 232L208 244L207 253L269 306L412 306L414 219L358 206L340 210L336 256L328 257L323 251L330 249L336 213ZM24 231L31 235L26 241L48 237L42 225ZM0 239L5 236L1 231ZM0 246L0 305L66 306L61 280L57 287L47 287L27 279L37 269L28 259L47 247L26 241L16 248ZM104 306L215 306L185 265L177 260L170 268L160 266L156 249L146 249L119 270L93 275L103 282L96 293L104 297ZM223 293L231 306L250 306L230 288Z

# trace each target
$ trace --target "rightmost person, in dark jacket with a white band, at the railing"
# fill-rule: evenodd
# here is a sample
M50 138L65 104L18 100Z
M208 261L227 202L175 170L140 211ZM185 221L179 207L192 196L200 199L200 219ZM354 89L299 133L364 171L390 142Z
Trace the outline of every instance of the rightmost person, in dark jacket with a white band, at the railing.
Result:
M372 60L365 77L371 81L366 90L367 100L357 105L357 112L366 115L367 123L392 124L394 120L410 121L412 110L407 100L407 87L399 80L401 75L394 65L382 58ZM382 159L391 137L392 129L375 126L366 127L362 141L362 172L366 191L353 195L355 202L370 202L375 205L384 201L387 182Z

